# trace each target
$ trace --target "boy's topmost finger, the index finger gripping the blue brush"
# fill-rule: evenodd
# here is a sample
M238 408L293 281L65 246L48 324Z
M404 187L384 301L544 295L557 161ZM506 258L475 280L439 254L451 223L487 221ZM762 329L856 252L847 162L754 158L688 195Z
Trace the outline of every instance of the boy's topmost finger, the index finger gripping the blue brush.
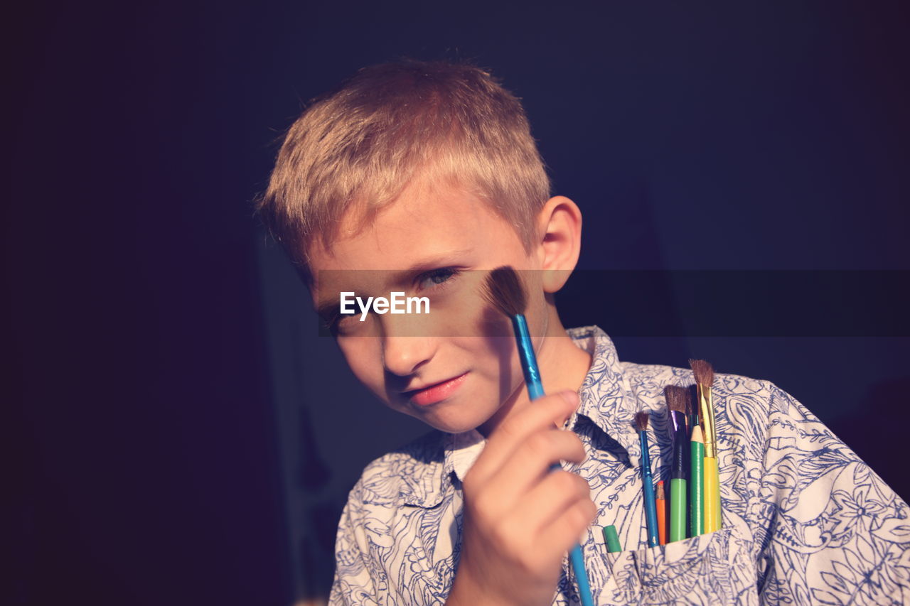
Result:
M489 477L501 468L522 441L536 431L551 429L553 422L569 416L578 408L578 403L578 394L574 391L563 391L531 401L527 409L504 421L490 434L471 472L479 478Z

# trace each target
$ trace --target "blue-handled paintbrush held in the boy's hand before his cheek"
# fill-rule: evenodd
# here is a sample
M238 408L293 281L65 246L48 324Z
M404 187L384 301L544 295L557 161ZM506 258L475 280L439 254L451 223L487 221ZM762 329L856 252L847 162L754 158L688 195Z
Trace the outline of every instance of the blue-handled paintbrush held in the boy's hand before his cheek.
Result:
M531 333L528 331L528 320L524 311L528 308L528 298L521 279L515 270L505 266L493 269L487 277L486 288L483 296L493 308L500 310L511 319L515 331L515 343L521 359L521 372L524 373L524 384L528 388L528 397L538 399L543 396L543 383L541 382L541 369L537 366L537 357L534 355L534 344ZM561 470L559 463L551 466L551 471ZM588 582L588 573L584 569L584 558L581 555L581 545L578 543L569 551L572 570L575 571L575 580L578 581L578 593L582 606L593 606L591 598L591 585Z

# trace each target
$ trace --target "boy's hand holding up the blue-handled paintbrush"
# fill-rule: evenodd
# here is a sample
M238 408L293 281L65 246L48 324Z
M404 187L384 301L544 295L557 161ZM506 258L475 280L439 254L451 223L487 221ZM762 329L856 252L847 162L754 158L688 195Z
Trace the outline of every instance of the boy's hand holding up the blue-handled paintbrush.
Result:
M584 460L581 440L553 428L578 403L572 391L533 400L490 434L463 483L450 606L552 603L563 555L597 515L585 480L550 471L560 460Z

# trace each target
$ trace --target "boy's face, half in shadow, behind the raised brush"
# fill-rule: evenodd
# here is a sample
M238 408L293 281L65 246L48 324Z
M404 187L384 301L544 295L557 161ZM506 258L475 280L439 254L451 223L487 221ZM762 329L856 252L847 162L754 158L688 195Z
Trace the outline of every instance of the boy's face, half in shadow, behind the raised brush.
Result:
M430 298L425 316L343 317L336 334L350 369L389 408L436 429L467 431L491 418L481 431L494 429L494 414L524 382L509 319L484 303L487 272L477 270L539 269L540 251L529 255L510 224L456 188L410 186L368 227L356 231L352 217L341 227L331 252L319 242L309 250L317 308L337 311L340 291ZM547 323L540 272L523 275L537 346Z

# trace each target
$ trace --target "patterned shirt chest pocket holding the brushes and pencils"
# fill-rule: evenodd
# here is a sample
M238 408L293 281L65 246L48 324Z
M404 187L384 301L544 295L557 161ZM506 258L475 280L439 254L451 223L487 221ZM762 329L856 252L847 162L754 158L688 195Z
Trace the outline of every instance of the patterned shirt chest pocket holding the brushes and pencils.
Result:
M691 539L602 553L608 579L599 603L757 603L751 538L735 527Z

